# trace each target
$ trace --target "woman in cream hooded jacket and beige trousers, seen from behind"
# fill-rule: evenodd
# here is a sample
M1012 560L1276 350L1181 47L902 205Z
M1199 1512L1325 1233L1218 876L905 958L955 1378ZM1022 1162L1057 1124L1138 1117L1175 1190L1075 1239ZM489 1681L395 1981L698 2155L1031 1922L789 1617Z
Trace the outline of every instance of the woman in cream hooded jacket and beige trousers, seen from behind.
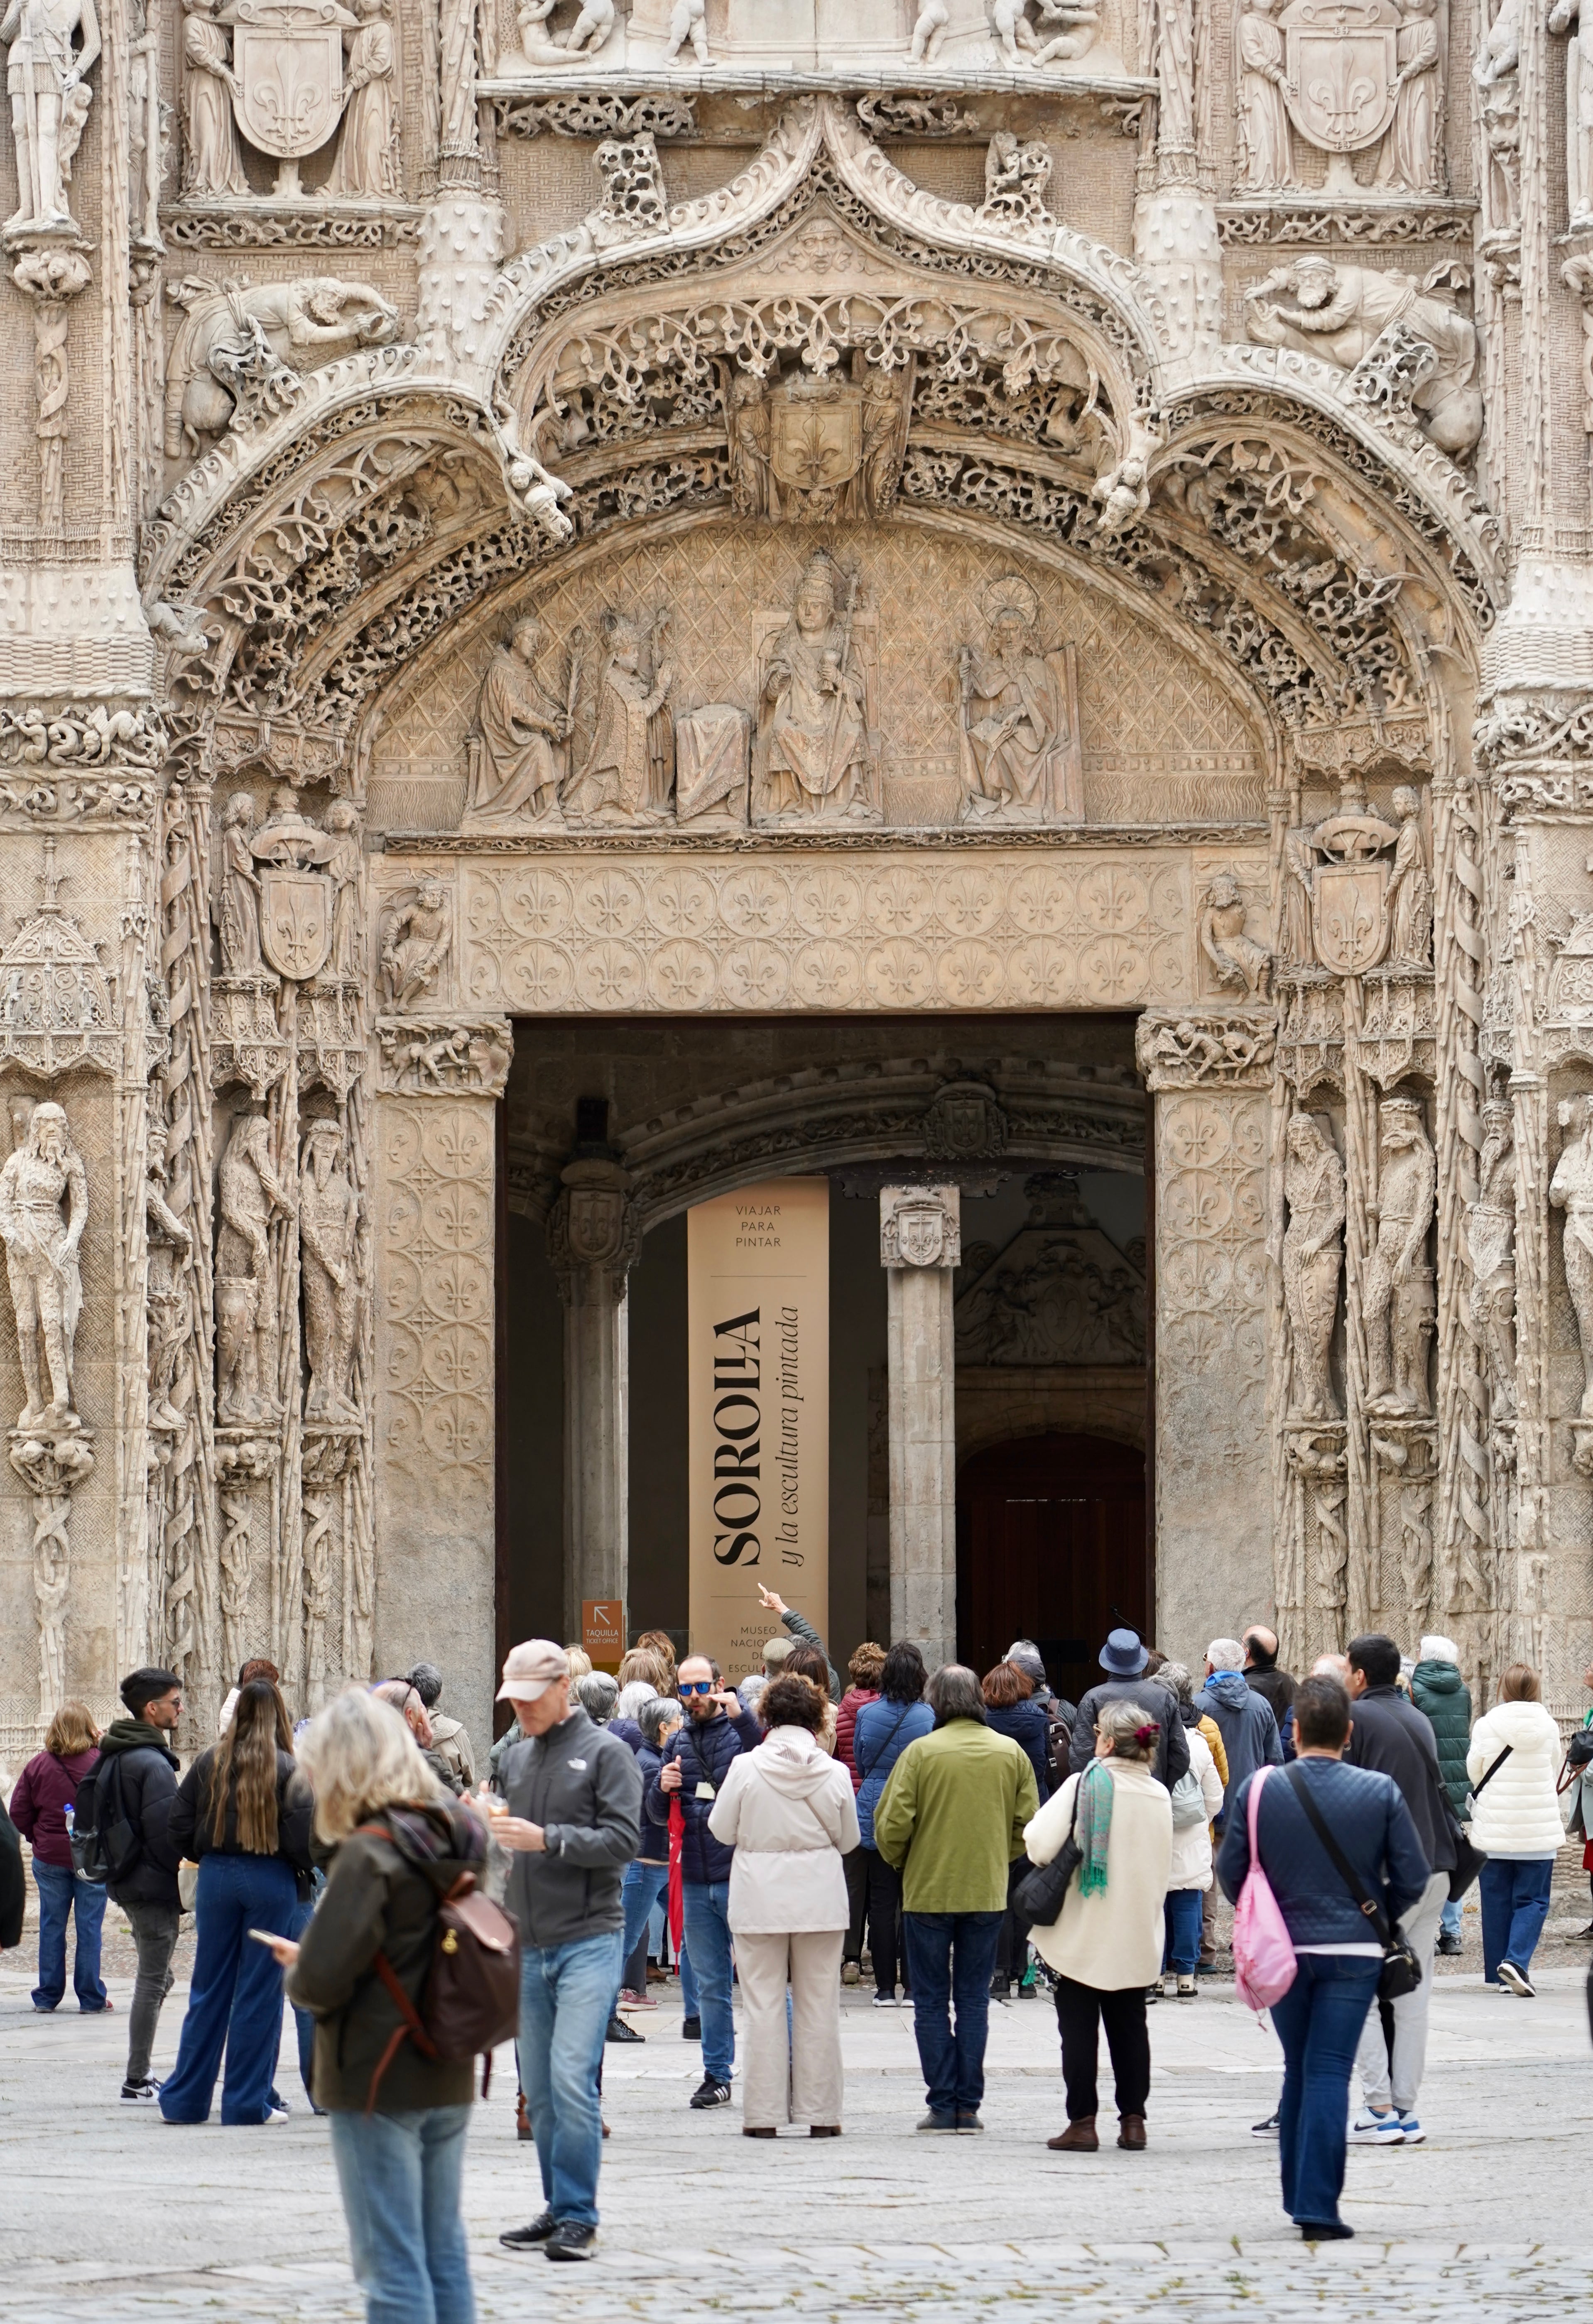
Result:
M742 2131L842 2129L842 1945L851 1908L842 1857L860 1841L851 1776L819 1741L826 1697L798 1673L758 1703L767 1734L730 1762L707 1829L730 1864L730 1936L742 1980ZM791 2027L786 2027L786 1985Z

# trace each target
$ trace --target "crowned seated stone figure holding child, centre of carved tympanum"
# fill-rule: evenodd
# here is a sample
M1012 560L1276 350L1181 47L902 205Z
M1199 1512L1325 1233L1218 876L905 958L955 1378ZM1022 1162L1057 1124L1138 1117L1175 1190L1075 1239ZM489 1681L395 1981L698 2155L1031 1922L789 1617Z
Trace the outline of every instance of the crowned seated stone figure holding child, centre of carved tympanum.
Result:
M770 816L874 818L867 686L851 634L856 579L837 607L840 572L823 551L798 581L758 695L756 779Z

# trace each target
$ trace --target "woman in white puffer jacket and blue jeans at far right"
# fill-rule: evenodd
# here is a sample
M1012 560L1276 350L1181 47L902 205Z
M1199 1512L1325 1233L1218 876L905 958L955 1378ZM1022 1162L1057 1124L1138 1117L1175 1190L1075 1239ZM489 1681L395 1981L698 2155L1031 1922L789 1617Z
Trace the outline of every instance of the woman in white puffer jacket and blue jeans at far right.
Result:
M1533 2001L1533 1952L1549 1917L1549 1882L1565 1824L1556 1783L1560 1729L1542 1706L1537 1671L1512 1662L1500 1699L1472 1727L1465 1773L1472 1783L1472 1843L1488 1862L1481 1896L1481 1973Z

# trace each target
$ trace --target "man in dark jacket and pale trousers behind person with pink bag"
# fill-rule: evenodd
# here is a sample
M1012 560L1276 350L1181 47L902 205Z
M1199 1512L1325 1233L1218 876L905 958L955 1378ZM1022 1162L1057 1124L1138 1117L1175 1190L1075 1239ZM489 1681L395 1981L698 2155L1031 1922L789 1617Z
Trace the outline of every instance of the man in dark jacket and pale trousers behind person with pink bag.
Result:
M1423 2138L1416 2096L1428 2061L1433 1948L1449 1899L1449 1873L1456 1868L1456 1824L1437 1766L1433 1722L1395 1687L1400 1648L1393 1638L1370 1634L1351 1638L1344 1652L1353 1710L1344 1759L1393 1778L1433 1868L1419 1903L1400 1920L1405 1941L1421 1961L1421 1985L1414 1994L1367 2010L1356 2057L1365 2103L1349 2136L1365 2147L1416 2145Z

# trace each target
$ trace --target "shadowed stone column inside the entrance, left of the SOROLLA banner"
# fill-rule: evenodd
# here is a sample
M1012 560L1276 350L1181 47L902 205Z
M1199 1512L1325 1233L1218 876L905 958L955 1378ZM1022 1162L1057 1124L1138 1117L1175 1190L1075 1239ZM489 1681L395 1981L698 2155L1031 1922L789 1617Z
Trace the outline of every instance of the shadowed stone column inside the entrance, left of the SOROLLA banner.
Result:
M581 1636L584 1599L630 1585L630 1304L642 1253L630 1178L619 1162L570 1162L547 1225L565 1304L565 1636Z

